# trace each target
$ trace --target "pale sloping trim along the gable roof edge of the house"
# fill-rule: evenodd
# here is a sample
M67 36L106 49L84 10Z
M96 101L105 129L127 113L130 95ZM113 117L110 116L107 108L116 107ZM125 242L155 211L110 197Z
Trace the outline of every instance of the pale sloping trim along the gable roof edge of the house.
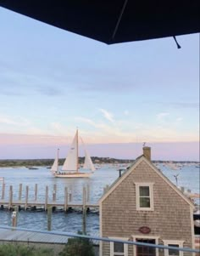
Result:
M142 162L146 162L153 170L154 172L156 172L162 179L164 179L164 181L179 195L181 196L186 203L188 203L192 208L194 208L193 203L190 201L190 199L185 196L164 174L162 174L158 168L156 168L152 162L148 161L147 158L145 156L139 156L136 158L136 161L133 162L133 164L131 165L130 168L128 168L124 174L122 174L121 177L119 177L118 179L116 179L114 181L114 183L109 187L108 191L100 198L99 200L99 204L102 204L103 201L118 187L118 185L123 182L123 180L125 180L132 172L134 172L134 170L136 169L136 167Z

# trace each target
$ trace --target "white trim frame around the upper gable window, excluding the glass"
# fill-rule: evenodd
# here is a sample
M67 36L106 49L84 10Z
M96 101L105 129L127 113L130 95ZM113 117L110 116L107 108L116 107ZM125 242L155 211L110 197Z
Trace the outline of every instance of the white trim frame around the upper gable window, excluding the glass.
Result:
M136 211L154 211L153 206L153 183L135 183L136 185ZM140 186L148 186L149 187L149 197L150 197L150 208L141 208L140 207Z

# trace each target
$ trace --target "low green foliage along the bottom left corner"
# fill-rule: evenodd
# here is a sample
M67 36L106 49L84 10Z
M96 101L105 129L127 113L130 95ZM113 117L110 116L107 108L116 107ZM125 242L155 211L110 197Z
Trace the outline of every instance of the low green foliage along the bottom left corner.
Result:
M0 245L0 256L53 256L53 251L47 248L7 243Z

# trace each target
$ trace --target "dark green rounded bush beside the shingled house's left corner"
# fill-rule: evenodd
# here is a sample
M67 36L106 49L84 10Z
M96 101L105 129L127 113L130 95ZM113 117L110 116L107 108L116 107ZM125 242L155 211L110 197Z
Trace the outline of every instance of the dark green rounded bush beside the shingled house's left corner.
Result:
M81 232L78 232L81 235ZM94 256L92 242L82 237L69 238L59 256Z

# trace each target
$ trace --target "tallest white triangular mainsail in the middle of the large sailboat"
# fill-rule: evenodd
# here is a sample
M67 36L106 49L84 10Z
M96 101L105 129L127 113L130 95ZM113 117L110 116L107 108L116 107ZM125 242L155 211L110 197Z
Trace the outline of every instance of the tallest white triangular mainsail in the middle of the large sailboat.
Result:
M63 171L78 172L78 130L75 133L69 154L64 161Z

